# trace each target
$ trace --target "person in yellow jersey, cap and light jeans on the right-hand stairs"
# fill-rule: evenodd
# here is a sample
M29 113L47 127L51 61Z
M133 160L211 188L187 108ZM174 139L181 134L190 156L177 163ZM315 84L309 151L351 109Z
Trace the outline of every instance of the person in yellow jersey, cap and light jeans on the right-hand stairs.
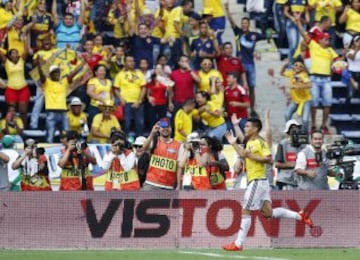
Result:
M311 81L301 60L295 61L293 69L286 69L287 65L285 64L280 72L282 76L290 79L291 103L285 112L285 121L289 121L296 112L302 118L302 129L307 133L312 100Z

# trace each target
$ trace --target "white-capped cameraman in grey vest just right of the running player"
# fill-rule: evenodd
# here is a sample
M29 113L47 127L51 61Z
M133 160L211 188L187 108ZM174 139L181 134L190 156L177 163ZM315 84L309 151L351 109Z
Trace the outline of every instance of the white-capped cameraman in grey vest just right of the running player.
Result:
M275 155L275 167L278 169L276 187L279 190L293 190L297 187L295 173L296 156L303 146L294 140L294 134L300 130L300 124L291 119L286 122L284 133L287 137L280 141Z

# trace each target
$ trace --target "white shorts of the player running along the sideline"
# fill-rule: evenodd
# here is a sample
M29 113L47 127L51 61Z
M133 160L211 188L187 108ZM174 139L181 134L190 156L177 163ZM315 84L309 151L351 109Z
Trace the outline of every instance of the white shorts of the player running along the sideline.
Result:
M269 181L266 178L251 181L246 188L243 208L259 210L265 201L271 203Z

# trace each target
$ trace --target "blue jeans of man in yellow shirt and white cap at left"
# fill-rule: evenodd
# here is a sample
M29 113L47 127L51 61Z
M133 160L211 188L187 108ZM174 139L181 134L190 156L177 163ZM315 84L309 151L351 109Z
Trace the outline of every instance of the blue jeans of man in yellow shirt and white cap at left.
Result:
M60 131L69 130L69 121L66 117L66 112L47 112L46 113L46 129L47 129L47 138L48 143L54 141L54 134L57 126Z

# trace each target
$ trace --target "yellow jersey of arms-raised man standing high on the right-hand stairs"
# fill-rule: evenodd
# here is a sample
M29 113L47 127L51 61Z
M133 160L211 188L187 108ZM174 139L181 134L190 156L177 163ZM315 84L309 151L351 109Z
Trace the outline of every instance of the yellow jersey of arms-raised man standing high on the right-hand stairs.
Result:
M310 74L328 75L331 74L331 63L339 55L333 48L322 48L316 41L311 40L309 43L311 56Z

